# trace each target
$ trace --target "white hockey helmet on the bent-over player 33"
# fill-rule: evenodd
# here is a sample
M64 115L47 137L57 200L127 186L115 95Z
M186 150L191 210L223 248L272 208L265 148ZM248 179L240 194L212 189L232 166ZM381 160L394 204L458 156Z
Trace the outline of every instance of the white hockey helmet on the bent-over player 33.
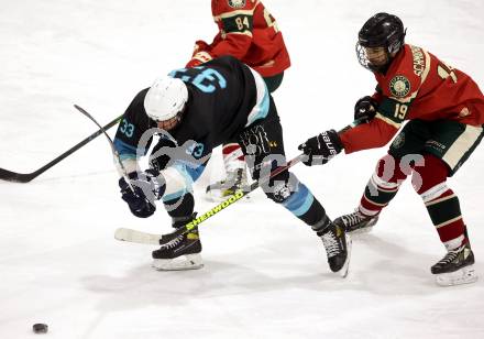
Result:
M188 100L188 89L178 78L157 78L146 92L144 109L155 121L165 121L180 113Z

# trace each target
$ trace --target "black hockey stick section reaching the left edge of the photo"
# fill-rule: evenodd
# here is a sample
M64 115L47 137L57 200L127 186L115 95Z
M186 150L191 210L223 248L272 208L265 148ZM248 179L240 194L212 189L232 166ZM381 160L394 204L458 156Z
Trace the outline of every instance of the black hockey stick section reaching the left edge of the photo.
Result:
M54 158L48 164L42 166L41 168L38 168L32 173L16 173L16 172L11 172L8 170L0 168L0 179L11 182L11 183L22 183L22 184L31 182L32 179L36 178L38 175L41 175L42 173L44 173L45 171L51 168L52 166L56 165L57 163L59 163L61 161L63 161L64 158L66 158L67 156L69 156L70 154L73 154L74 152L76 152L77 150L82 147L84 145L86 145L91 140L99 136L102 133L102 130L109 130L110 128L112 128L114 124L117 124L120 121L121 118L122 118L122 116L116 118L110 123L108 123L107 125L105 125L103 128L98 130L96 133L89 135L88 138L86 138L81 142L79 142L74 147L67 150L66 152L64 152L63 154L61 154L59 156Z

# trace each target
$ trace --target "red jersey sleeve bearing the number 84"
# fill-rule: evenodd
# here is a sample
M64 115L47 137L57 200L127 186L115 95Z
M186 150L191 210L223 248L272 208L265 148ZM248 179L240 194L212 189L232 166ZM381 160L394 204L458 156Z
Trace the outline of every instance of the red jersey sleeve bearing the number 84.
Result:
M213 19L220 29L210 48L213 57L232 55L241 59L248 53L257 3L251 0L212 1Z

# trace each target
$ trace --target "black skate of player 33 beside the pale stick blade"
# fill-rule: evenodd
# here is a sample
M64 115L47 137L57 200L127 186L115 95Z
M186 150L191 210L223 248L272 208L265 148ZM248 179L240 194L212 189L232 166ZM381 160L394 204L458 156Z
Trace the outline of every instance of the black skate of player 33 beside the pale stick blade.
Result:
M179 228L191 219L191 216L178 218L174 220L173 227ZM183 271L197 270L204 266L200 255L201 242L197 228L177 237L173 234L163 236L160 243L162 247L152 253L152 266L154 269L160 271Z

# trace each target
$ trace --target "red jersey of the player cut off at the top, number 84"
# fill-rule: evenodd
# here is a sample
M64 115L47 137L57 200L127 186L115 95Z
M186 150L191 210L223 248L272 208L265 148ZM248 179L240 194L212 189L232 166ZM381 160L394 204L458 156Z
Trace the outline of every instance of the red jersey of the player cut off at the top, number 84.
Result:
M290 66L289 54L274 17L258 0L212 0L219 33L208 45L212 57L232 55L270 77Z

